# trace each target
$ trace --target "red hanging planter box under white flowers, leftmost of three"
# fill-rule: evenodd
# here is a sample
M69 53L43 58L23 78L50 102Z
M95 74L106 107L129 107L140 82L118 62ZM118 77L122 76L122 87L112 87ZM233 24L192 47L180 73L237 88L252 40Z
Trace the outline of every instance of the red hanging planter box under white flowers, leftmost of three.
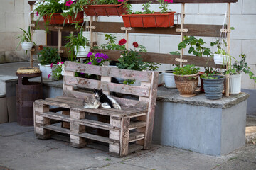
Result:
M61 13L53 13L52 16L46 15L43 16L43 21L49 24L68 24L68 23L82 23L84 21L84 14L83 11L78 12L77 17L75 16L69 16L68 18L65 19L65 17L61 16ZM65 21L65 23L64 23Z

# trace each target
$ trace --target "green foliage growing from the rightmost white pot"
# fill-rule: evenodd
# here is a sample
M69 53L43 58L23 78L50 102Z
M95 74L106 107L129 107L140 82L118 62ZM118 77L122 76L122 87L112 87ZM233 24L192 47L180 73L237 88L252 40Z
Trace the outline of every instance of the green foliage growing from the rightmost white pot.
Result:
M250 79L253 79L256 82L256 77L254 76L255 74L251 71L250 67L248 66L247 62L245 62L246 60L246 56L245 54L241 54L239 55L242 60L240 61L236 61L230 69L228 69L227 71L225 71L225 74L240 74L242 72L244 72L245 74L249 74Z

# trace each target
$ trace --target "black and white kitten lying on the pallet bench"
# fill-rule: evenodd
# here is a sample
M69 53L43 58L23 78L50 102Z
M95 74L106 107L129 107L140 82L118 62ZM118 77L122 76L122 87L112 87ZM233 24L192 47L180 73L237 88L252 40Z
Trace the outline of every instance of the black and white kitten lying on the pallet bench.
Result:
M102 103L101 104L102 108L116 108L116 109L122 110L119 103L117 103L117 101L114 100L114 98L112 98L111 96L104 94L102 89L100 90L93 89L93 93L95 93L95 98L97 98L97 100L99 100L100 103Z

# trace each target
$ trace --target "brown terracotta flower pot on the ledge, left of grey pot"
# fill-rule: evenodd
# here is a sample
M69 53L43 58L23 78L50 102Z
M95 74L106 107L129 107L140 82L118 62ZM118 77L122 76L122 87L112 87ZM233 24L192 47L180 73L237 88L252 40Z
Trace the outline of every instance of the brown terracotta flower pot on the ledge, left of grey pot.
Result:
M198 86L198 73L191 75L175 75L175 84L182 97L193 97L196 96L194 91Z

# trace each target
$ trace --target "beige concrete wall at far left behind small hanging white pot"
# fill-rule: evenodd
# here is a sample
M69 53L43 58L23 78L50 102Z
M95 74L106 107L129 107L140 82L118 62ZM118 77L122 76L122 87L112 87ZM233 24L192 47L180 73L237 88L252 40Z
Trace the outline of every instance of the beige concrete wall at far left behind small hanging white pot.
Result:
M0 0L0 63L20 62L28 60L28 55L21 50L16 37L21 34L19 28L28 30L28 13L30 6L28 0ZM45 44L43 30L36 30L33 40L39 44Z

